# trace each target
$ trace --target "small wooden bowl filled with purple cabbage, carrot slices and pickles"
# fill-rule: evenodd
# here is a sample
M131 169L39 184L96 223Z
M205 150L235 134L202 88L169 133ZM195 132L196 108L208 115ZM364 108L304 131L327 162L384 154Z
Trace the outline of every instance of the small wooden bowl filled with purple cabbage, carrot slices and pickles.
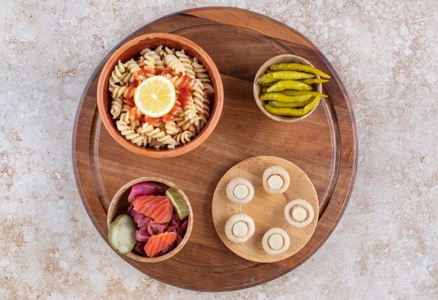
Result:
M187 243L193 212L185 193L172 182L141 177L115 193L107 214L108 242L136 261L169 259Z

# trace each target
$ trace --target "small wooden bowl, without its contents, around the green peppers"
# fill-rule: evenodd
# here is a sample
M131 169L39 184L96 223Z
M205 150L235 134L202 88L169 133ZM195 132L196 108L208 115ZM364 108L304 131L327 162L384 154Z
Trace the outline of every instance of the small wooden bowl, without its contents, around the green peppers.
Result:
M319 102L316 107L309 111L309 113L307 113L305 116L276 116L274 114L269 114L269 112L267 112L266 109L264 109L263 107L263 101L260 101L260 95L262 95L263 87L261 84L257 84L257 79L262 76L267 69L269 69L269 66L271 64L281 64L282 62L295 62L297 64L306 64L307 66L313 67L313 64L311 64L308 60L305 60L303 57L297 55L281 54L270 58L269 60L267 60L267 62L262 64L262 67L260 67L260 69L257 71L257 74L255 74L255 79L253 83L254 99L255 103L257 103L257 106L260 108L263 114L269 116L269 118L271 118L272 120L285 123L297 122L310 116L310 114L315 111L316 107L318 107ZM320 76L316 76L316 78L320 79ZM321 83L313 84L313 90L318 93L323 93L323 85Z

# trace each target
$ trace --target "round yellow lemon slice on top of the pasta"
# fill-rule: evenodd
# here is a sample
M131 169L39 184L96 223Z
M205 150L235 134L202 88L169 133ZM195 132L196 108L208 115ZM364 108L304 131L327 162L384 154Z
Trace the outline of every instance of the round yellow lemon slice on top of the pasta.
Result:
M174 83L164 76L150 77L135 89L134 102L146 116L164 116L171 111L176 102Z

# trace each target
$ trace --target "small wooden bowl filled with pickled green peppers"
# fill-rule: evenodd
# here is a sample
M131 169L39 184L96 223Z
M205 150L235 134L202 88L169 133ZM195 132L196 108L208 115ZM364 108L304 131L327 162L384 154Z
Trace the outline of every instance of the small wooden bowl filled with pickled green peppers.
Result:
M315 111L330 79L303 57L282 54L267 60L257 71L253 92L263 114L274 121L292 123Z

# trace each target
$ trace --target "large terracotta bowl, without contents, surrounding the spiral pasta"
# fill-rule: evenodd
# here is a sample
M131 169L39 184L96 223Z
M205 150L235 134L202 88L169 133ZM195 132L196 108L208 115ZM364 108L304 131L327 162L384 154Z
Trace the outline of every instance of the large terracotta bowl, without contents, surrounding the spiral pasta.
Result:
M115 120L113 120L110 114L111 95L108 92L108 79L111 76L111 72L113 71L115 64L117 64L118 60L126 62L132 57L137 57L143 48L153 49L160 45L167 46L169 48L176 48L178 50L185 50L186 54L192 57L197 57L199 62L204 65L206 71L208 72L215 92L213 94L214 97L210 118L202 131L199 132L199 134L190 142L183 144L182 146L177 146L175 149L150 149L133 144L122 136L115 125ZM101 71L99 83L97 84L97 107L99 108L99 115L111 137L113 137L113 139L115 139L115 141L120 145L124 146L125 149L142 156L153 158L179 156L192 151L197 146L202 144L202 142L204 142L209 135L211 135L211 132L213 132L214 128L218 124L220 114L222 113L223 102L224 93L222 79L220 79L220 73L216 67L216 64L214 64L211 57L196 43L193 43L192 41L175 34L145 34L127 41L120 46L120 48L118 48L118 50L116 50L115 53L113 53L113 55L111 55L111 57L108 59Z

